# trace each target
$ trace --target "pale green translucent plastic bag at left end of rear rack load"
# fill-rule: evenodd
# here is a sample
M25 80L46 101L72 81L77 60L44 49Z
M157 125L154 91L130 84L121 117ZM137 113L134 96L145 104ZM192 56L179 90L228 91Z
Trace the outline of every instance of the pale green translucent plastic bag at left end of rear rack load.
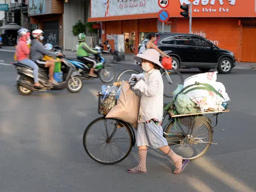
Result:
M174 102L175 110L178 114L193 114L199 113L200 109L196 107L194 103L187 95L179 94L177 99Z

